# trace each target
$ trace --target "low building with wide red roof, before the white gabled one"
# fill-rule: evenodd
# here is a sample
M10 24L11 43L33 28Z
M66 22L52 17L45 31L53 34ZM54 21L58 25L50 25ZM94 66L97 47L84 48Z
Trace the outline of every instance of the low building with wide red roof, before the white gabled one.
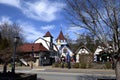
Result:
M23 64L29 64L33 61L34 66L50 64L49 50L46 49L42 43L26 43L18 47L19 59Z

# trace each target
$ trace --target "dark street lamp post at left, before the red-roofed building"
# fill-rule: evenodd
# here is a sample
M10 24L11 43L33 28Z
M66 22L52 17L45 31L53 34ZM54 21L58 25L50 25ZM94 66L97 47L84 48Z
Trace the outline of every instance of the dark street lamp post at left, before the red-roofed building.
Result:
M14 37L14 52L13 52L13 56L12 56L12 73L15 73L15 54L16 54L16 47L19 41L19 37Z

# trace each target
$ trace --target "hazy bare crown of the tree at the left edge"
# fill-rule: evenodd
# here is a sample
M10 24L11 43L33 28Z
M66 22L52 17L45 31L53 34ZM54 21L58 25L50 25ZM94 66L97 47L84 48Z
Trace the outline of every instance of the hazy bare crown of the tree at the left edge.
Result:
M0 25L0 33L1 33L1 37L2 39L7 39L10 43L10 46L12 46L13 44L13 38L15 36L19 36L21 39L20 42L24 41L24 37L21 34L23 32L22 28L16 24L8 24L8 23L4 23Z

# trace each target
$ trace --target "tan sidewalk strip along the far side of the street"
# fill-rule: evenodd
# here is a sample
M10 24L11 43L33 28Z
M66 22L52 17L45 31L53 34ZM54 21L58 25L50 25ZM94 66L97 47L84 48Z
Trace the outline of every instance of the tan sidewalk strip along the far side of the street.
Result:
M2 66L0 66L2 70ZM8 67L8 70L11 70L11 67ZM100 75L108 75L115 76L115 71L111 69L76 69L76 68L53 68L52 66L39 66L33 67L16 67L16 70L35 70L35 71L47 71L47 72L59 72L59 73L85 73L85 74L100 74Z

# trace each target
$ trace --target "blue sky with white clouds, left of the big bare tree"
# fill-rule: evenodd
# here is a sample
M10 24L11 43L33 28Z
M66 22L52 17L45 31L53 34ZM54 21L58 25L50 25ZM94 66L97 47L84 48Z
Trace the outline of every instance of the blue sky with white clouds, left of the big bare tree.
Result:
M62 29L64 35L76 39L81 28L71 27L64 16L66 4L61 0L0 0L0 24L17 23L27 42L34 42L50 31L54 39Z

